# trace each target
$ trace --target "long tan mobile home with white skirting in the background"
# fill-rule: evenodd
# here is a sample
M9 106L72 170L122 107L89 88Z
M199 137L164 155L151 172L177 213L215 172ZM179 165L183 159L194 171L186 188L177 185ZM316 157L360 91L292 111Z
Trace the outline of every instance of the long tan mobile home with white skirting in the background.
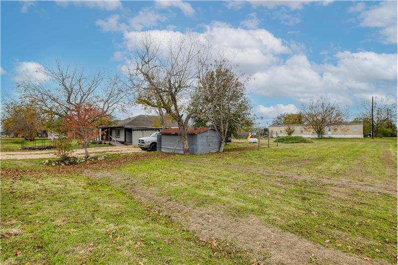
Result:
M302 136L305 138L316 138L317 135L314 130L306 128L303 124L284 124L271 125L268 129L272 137L288 135L287 129L291 127L294 129L292 136ZM342 123L333 126L327 126L323 137L332 138L363 138L363 124L362 122Z

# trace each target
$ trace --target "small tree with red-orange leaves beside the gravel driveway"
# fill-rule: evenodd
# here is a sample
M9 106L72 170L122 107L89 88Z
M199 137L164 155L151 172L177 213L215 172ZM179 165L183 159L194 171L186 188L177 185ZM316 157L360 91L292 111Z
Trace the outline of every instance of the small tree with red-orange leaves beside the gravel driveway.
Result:
M87 148L90 139L99 135L98 127L110 123L110 116L91 103L77 104L65 116L64 126L68 137L74 137L82 142L85 158L89 157Z

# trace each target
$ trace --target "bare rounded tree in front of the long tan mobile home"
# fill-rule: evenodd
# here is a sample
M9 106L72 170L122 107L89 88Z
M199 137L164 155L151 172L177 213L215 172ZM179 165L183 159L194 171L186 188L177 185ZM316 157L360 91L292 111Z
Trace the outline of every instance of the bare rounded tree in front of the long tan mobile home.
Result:
M327 126L335 130L348 116L347 111L342 110L336 102L329 102L323 97L311 99L308 104L303 104L301 112L304 126L313 129L318 138L322 137Z

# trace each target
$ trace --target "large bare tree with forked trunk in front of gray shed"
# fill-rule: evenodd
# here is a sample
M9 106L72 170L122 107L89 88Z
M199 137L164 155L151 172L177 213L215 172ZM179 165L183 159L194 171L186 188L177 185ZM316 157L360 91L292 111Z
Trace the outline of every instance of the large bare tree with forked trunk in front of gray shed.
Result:
M136 47L136 60L129 68L129 80L135 96L155 97L156 107L173 117L180 129L184 154L189 154L187 128L192 116L189 102L198 89L207 53L191 36L170 39L166 46L163 51L157 40L143 35Z

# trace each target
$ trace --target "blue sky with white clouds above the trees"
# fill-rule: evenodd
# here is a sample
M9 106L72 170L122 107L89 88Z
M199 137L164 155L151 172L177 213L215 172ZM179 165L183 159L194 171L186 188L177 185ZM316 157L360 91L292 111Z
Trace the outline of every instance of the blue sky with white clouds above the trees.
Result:
M46 82L56 60L123 74L140 34L195 34L250 76L264 123L323 96L362 111L372 95L397 102L397 1L3 1L1 98ZM142 114L140 107L118 118Z

